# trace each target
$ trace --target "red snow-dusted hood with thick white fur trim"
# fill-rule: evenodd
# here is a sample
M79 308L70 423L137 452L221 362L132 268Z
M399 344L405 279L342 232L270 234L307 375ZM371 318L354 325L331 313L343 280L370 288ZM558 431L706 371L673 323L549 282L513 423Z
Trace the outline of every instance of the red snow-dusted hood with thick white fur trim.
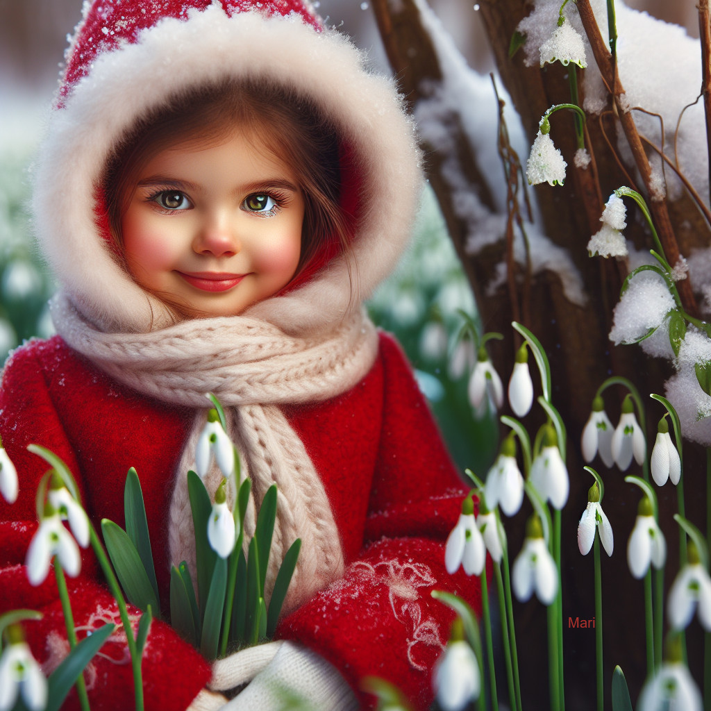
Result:
M36 166L33 213L61 288L102 331L171 323L102 237L97 186L110 151L137 117L175 92L259 76L313 97L353 151L360 299L395 267L419 199L417 139L392 81L370 73L347 38L324 28L300 0L85 1ZM332 328L360 299L352 298L348 265L338 257L243 315L306 336Z

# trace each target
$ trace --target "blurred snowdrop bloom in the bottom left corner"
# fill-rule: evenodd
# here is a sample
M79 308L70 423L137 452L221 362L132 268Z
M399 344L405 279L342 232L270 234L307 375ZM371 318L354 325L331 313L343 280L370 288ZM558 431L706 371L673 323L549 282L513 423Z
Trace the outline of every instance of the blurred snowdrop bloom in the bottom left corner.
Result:
M6 631L9 644L0 656L0 711L14 708L22 696L30 711L41 711L47 705L47 680L18 625Z

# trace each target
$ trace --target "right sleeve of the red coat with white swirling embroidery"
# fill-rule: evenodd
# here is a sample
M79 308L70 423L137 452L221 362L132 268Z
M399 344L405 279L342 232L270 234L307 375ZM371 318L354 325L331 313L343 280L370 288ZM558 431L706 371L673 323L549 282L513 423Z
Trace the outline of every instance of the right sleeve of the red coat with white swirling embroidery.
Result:
M478 579L444 569L444 542L464 486L400 346L381 337L383 427L365 545L343 579L287 616L281 636L330 661L360 695L368 675L385 678L418 710L432 702L431 676L453 614L430 595L445 589L480 610Z

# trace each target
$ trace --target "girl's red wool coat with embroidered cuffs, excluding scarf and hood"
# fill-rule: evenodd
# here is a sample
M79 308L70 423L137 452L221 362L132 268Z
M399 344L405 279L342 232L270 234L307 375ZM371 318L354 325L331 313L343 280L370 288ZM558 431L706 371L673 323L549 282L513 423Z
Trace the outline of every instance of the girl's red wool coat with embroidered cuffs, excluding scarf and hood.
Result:
M416 708L427 708L432 665L451 621L450 611L429 593L449 589L478 607L479 586L444 570L444 540L459 515L462 485L410 367L397 343L381 334L375 365L353 390L289 407L286 414L324 482L346 574L282 619L277 636L324 656L364 707L372 699L360 692L360 680L378 675L404 690ZM167 610L166 517L174 468L192 421L191 410L110 380L59 337L31 341L11 356L0 391L0 435L18 469L20 494L13 506L0 499L0 614L18 607L43 613L41 621L26 623L26 632L46 670L59 663L68 645L53 574L31 587L23 567L37 525L36 486L48 469L27 445L43 444L66 461L97 528L102 518L124 524L124 478L136 467ZM80 576L69 579L80 638L105 621L120 624L97 565L90 555L84 558ZM208 683L210 665L166 622L156 621L143 673L146 711L182 711ZM94 711L132 707L120 631L85 678ZM68 707L76 706L74 694Z

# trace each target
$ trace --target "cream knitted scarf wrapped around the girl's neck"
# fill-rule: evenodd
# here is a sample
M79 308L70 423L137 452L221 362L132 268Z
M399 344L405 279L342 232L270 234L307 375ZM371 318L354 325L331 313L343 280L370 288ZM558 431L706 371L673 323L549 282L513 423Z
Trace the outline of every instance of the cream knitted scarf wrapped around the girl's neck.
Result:
M186 475L195 468L195 447L210 407L205 394L213 392L225 407L242 470L252 479L245 543L254 533L264 493L272 483L278 486L267 596L284 552L296 538L301 538L301 553L284 612L341 576L343 551L324 486L280 406L327 400L368 373L378 353L378 336L367 316L355 311L331 332L304 338L247 316L194 319L150 333L102 333L65 294L55 296L51 307L60 336L112 378L144 395L196 409L171 501L173 564L186 560L194 573ZM221 476L213 464L205 476L211 496Z

